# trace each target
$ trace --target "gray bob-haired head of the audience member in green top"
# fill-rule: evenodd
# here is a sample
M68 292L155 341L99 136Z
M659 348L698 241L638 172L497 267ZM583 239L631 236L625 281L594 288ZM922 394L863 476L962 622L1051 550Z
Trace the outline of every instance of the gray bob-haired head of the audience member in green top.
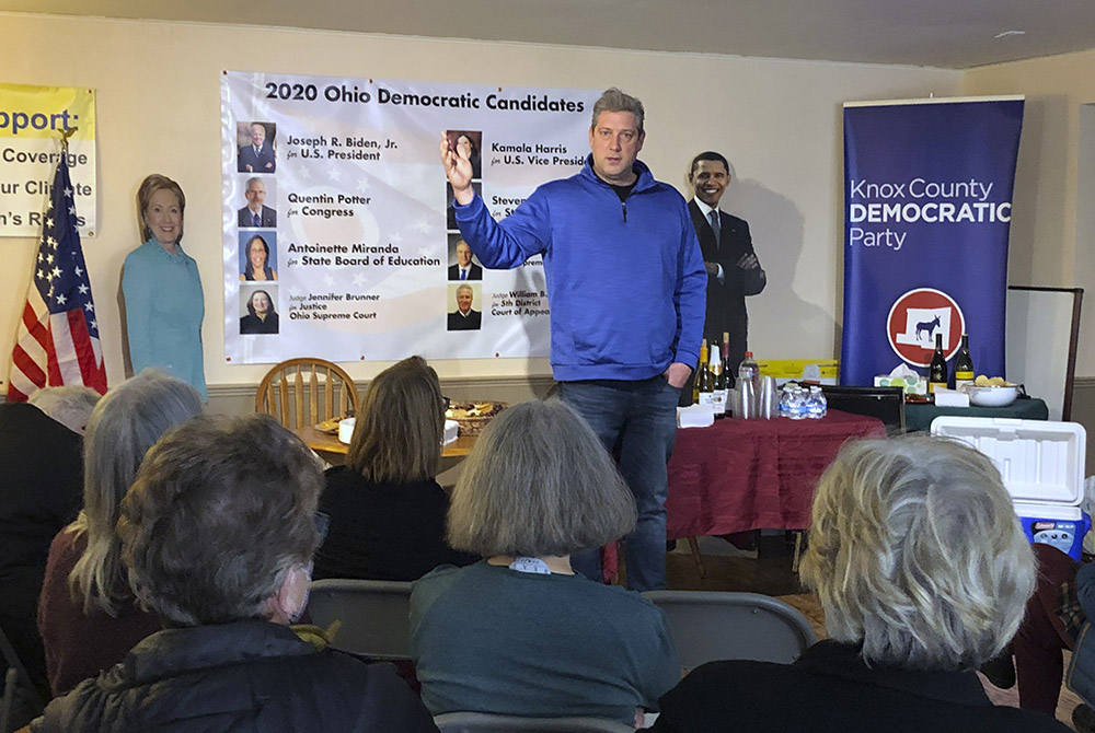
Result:
M452 492L449 544L483 557L565 556L619 539L635 500L589 424L562 402L494 418Z

